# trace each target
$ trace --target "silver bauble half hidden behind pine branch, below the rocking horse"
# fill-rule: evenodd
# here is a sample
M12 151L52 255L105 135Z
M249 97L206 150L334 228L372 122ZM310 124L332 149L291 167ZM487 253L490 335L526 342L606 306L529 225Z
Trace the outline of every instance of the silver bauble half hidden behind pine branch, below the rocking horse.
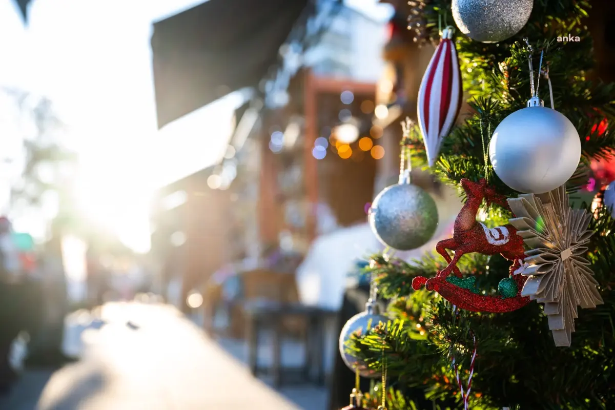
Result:
M378 323L387 323L389 318L380 314L378 305L374 302L367 302L365 312L357 313L351 317L339 334L339 354L352 371L359 371L361 377L375 379L381 376L381 372L368 368L364 361L346 352L346 341L350 340L351 334L355 332L363 333L367 329L374 328Z

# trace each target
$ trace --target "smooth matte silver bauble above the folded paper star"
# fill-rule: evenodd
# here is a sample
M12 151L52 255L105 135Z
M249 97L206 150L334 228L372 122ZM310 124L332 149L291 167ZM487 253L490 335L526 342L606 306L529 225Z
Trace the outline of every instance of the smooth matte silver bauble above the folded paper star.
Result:
M533 97L526 108L498 125L489 157L507 186L525 194L544 194L573 176L581 159L581 140L568 118Z

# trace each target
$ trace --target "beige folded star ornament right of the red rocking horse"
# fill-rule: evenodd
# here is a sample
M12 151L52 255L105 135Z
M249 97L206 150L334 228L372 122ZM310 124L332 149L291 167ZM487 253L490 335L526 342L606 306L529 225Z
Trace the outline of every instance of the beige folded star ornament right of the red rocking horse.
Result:
M517 216L509 223L530 248L524 259L528 266L521 272L528 276L522 296L544 303L555 345L569 346L577 307L603 304L584 256L593 233L587 229L592 215L569 207L564 186L541 198L523 194L508 200Z

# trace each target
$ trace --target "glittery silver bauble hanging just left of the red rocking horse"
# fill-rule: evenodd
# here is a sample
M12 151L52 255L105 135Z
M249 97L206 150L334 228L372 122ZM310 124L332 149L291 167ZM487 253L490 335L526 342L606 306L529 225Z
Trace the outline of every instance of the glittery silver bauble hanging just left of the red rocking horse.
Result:
M408 251L425 245L434 236L438 209L427 192L402 182L378 194L371 204L369 221L380 242Z

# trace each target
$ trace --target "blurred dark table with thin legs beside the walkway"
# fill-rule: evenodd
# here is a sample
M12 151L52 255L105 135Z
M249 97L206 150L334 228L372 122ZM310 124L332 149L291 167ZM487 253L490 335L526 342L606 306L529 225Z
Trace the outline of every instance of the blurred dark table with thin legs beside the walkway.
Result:
M258 348L261 342L261 333L269 330L272 333L272 365L271 375L274 387L282 383L282 373L293 371L292 368L282 366L282 337L284 336L284 318L304 318L306 329L304 332L304 362L299 369L301 381L315 382L323 385L325 382L325 326L331 318L336 318L335 310L322 309L320 307L305 306L301 304L264 304L247 305L245 312L248 321L248 363L250 371L257 376L261 371L258 365ZM315 369L315 378L312 376ZM285 377L287 379L287 377Z

